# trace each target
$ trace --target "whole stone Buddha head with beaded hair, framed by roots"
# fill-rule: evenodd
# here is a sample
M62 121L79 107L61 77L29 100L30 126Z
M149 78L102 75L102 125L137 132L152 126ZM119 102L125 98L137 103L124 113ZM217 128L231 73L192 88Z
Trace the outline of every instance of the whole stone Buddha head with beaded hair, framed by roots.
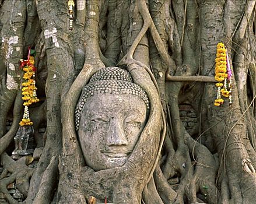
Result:
M146 124L149 99L129 72L117 67L96 72L83 87L75 128L87 166L94 171L128 160Z

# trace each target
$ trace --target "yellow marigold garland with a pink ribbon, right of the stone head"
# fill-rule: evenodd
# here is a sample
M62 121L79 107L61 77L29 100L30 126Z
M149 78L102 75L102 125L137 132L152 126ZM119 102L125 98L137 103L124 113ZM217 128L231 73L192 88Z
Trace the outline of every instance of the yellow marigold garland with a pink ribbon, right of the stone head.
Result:
M223 43L218 43L215 59L215 80L217 87L217 97L214 105L220 106L224 103L223 97L229 97L229 104L232 104L232 71L229 64L229 56ZM227 86L227 82L229 82Z

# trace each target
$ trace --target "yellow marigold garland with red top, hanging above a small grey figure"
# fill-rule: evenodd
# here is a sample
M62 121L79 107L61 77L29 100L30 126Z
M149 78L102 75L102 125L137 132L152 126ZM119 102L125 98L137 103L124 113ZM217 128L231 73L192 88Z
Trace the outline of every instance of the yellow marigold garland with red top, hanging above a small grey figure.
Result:
M30 55L30 48L28 59L20 59L20 68L22 68L22 70L24 71L24 82L22 83L22 100L24 100L24 114L22 121L20 121L19 125L33 125L33 122L29 118L29 105L37 103L39 99L37 99L37 87L36 81L34 80L36 68L34 67L34 57Z

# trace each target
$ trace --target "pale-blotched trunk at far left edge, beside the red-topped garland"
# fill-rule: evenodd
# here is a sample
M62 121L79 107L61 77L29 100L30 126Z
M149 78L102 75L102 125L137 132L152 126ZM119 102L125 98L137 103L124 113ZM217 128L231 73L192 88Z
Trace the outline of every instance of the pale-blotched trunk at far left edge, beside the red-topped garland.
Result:
M19 12L20 15L15 15ZM23 58L24 27L26 24L26 2L5 2L1 8L1 110L0 138L6 131L6 117L17 96L20 83L19 59ZM10 23L3 19L9 19ZM13 22L14 24L12 24ZM15 27L15 29L12 29ZM16 38L16 42L11 39ZM15 49L19 48L19 51ZM12 50L9 52L8 50ZM9 54L8 54L9 52ZM13 66L13 68L11 68ZM9 79L8 79L9 78ZM2 144L2 141L1 141ZM5 149L1 147L1 152ZM1 153L0 153L1 154Z

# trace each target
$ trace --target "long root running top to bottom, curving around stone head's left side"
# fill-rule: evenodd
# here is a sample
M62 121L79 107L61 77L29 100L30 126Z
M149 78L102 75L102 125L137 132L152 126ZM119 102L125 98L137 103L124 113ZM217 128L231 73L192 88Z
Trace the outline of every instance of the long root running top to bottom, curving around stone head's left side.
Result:
M59 187L57 202L67 203L86 203L85 196L80 187L80 168L83 164L82 154L76 138L74 112L76 102L80 96L80 90L94 73L104 68L100 59L98 38L99 22L99 2L90 1L87 9L86 30L85 33L90 36L86 43L85 64L79 75L68 87L68 93L62 95L61 112L62 114L62 156L59 163ZM95 14L95 15L92 15ZM93 50L91 50L93 49ZM72 182L69 182L71 181ZM68 199L68 200L67 200Z

